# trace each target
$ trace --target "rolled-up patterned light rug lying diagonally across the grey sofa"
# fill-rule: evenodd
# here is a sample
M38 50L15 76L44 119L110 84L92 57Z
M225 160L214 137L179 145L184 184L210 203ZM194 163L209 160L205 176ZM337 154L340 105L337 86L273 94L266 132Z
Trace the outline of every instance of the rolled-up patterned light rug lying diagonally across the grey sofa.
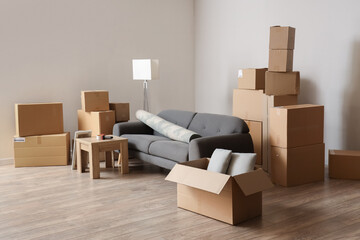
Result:
M192 139L200 137L196 132L166 121L144 110L136 111L136 117L152 129L176 141L189 143Z

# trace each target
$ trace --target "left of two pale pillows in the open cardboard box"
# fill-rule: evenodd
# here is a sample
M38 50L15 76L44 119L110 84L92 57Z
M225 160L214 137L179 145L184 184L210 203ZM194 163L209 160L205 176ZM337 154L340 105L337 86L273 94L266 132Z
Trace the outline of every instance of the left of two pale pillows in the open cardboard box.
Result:
M226 173L231 159L231 150L217 148L210 158L207 170L211 172Z

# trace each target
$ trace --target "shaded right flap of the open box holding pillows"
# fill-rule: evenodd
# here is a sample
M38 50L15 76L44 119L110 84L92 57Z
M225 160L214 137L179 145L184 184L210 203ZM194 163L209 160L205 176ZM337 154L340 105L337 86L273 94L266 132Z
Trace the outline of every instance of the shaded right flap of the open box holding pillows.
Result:
M273 187L269 177L262 169L234 176L245 196Z

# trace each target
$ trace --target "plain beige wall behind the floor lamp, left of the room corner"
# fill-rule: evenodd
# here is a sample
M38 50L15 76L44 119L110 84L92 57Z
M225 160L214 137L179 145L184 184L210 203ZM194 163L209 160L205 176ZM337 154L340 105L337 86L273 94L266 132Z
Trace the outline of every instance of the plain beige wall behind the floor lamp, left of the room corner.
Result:
M158 58L150 82L154 113L194 110L193 0L1 0L0 158L12 156L14 103L64 103L77 129L80 91L105 89L113 102L142 107L132 58Z

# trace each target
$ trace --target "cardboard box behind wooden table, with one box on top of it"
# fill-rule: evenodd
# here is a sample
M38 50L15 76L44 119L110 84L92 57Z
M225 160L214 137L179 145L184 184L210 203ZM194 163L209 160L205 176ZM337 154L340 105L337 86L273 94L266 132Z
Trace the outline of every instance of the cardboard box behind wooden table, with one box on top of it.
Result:
M115 112L112 110L101 112L78 110L78 129L91 130L92 136L112 134L114 124Z

